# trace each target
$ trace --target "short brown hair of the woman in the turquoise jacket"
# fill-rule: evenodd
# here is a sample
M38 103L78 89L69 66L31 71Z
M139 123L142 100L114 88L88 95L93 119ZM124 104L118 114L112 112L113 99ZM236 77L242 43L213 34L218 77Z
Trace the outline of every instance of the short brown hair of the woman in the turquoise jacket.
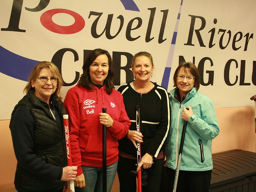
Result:
M198 91L200 87L200 73L199 70L196 68L194 63L191 62L181 62L179 66L176 68L174 75L173 75L173 87L177 87L177 75L179 70L183 68L186 73L190 72L192 76L195 77L194 87L196 87L196 91Z

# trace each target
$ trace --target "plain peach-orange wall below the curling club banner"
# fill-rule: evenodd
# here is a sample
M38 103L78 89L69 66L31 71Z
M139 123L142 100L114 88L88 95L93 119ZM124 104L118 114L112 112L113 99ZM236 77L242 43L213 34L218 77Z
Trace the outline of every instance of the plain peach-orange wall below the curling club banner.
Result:
M212 153L232 149L255 152L254 106L216 108L216 114L220 134L212 141ZM13 152L9 123L10 120L0 121L0 190L14 188L17 161ZM119 191L117 176L111 191Z

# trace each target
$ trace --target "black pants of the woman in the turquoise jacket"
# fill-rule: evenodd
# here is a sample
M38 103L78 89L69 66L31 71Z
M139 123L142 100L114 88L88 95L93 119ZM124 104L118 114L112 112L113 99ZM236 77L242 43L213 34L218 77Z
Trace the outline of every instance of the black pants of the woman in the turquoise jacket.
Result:
M167 167L170 191L173 188L175 170ZM208 192L211 183L212 170L209 171L181 171L179 172L177 192Z

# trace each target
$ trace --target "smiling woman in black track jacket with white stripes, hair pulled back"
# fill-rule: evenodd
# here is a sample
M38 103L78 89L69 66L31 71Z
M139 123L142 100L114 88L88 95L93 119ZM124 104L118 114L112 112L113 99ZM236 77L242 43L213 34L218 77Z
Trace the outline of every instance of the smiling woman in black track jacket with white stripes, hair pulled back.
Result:
M127 136L118 140L117 173L120 192L136 191L136 177L130 172L136 169L138 171L140 168L148 175L142 190L156 192L160 189L164 141L170 126L170 102L167 91L150 81L153 70L154 64L150 53L135 54L132 60L135 80L120 85L117 89L124 97L125 110L131 121ZM140 132L136 131L136 106L140 106ZM136 141L141 143L142 158L138 167L135 165ZM152 164L154 167L151 168Z

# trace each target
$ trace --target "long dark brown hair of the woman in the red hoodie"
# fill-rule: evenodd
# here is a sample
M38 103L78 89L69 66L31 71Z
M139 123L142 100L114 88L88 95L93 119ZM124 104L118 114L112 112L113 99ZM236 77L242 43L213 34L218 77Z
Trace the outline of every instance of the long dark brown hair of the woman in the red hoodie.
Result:
M78 86L83 86L89 90L93 89L93 82L90 78L90 66L92 62L99 56L106 55L108 57L108 76L103 82L103 85L106 85L106 92L110 95L110 93L114 89L113 79L114 79L114 69L113 69L113 61L108 53L108 51L103 49L94 49L92 52L88 54L86 59L84 60L83 65L83 74L80 76L78 81Z

